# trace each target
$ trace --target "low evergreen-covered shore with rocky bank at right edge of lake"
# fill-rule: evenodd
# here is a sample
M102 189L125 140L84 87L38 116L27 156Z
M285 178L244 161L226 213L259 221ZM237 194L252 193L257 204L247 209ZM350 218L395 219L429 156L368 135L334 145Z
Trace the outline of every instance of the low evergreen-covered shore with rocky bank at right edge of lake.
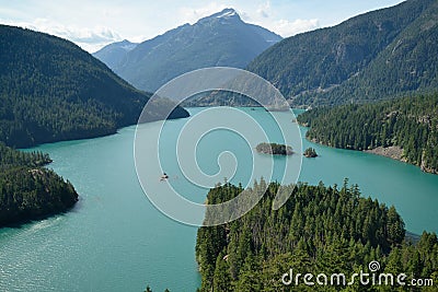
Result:
M438 93L314 108L297 119L316 142L354 150L400 147L400 159L438 174Z

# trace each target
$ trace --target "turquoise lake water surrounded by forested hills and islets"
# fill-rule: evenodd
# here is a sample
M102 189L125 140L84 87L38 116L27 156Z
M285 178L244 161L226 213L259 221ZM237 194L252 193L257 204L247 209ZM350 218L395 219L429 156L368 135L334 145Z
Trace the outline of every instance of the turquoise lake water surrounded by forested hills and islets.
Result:
M192 115L201 110L189 108ZM269 126L269 113L242 110L267 130L274 127ZM288 115L272 114L287 128L289 125L292 128ZM214 118L218 117L211 116ZM233 120L232 115L226 118ZM174 151L175 135L191 119L166 122L160 152L164 151L162 165L169 172L169 183L187 199L203 202L207 189L184 178L184 175L193 175L196 179L198 174L177 170ZM245 124L240 124L244 129ZM149 133L153 137L158 125L142 125L139 132L145 139ZM114 136L35 148L50 154L54 163L49 167L74 185L80 201L66 214L0 230L1 291L143 291L147 284L153 291L196 290L200 282L194 250L197 229L162 214L145 196L134 162L135 131L132 126ZM300 131L303 136L306 129L300 128ZM275 129L272 132L269 139L280 138ZM297 150L300 138L292 138L291 144ZM155 143L151 139L150 144ZM197 145L198 166L210 176L220 172L221 166L227 168L227 164L238 162L235 171L224 172L234 175L227 175L232 183L251 184L254 177L265 176L265 165L273 163L270 156L255 154L252 157L251 150L255 145L232 131L211 131ZM351 184L359 185L364 196L394 205L408 231L417 234L423 230L438 231L437 175L387 157L332 149L303 139L302 148L308 147L313 147L320 156L302 160L299 180L342 185L348 177ZM218 162L223 151L233 155ZM298 154L289 159L275 157L273 178L280 180L285 164L290 163L293 168L299 160ZM256 167L250 174L247 170L253 165ZM159 182L160 175L157 173L157 179L150 182L152 188L166 184Z

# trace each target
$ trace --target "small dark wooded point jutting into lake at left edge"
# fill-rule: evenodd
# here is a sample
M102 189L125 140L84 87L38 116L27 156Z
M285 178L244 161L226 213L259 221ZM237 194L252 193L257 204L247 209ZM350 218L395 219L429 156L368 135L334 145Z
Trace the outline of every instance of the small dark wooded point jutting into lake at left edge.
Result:
M47 154L25 153L0 143L0 227L67 211L78 194L44 166Z

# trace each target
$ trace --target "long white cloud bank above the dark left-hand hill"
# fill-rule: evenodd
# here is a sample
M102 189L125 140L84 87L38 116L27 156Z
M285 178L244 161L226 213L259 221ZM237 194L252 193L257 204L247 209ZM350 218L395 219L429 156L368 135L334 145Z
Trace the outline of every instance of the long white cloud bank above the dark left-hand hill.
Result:
M122 40L122 37L116 32L105 26L95 26L93 28L78 27L64 25L47 19L35 19L33 22L2 23L67 38L91 52L110 43Z

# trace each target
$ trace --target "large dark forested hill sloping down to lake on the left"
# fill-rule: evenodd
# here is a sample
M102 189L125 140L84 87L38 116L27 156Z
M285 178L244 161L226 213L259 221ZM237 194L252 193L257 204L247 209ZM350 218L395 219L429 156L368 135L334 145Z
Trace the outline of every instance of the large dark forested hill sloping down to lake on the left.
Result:
M114 133L149 98L74 44L0 25L0 141L18 148ZM161 102L150 120L163 117ZM187 116L177 108L172 117Z

